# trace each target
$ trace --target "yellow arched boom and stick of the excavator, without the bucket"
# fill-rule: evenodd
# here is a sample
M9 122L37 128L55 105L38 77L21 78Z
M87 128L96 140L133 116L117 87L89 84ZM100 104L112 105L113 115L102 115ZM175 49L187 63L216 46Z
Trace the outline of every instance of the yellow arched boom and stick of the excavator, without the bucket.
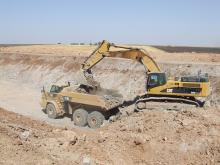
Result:
M120 51L110 51L110 47L121 48L124 50ZM123 46L116 46L110 44L107 41L103 41L99 47L88 57L88 59L82 64L82 70L84 72L91 72L91 68L94 67L98 62L100 62L105 57L113 58L125 58L131 59L140 62L144 65L145 69L149 72L160 72L160 67L153 60L152 57L148 55L142 49L139 48L130 48Z

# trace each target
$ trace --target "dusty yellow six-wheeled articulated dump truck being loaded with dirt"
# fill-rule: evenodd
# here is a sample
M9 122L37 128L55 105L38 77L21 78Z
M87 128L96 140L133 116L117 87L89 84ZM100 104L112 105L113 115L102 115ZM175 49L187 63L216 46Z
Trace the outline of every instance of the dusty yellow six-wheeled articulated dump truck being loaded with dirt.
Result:
M103 121L117 113L122 105L122 96L117 94L97 95L94 89L83 85L52 85L50 91L42 91L41 107L49 118L71 115L74 124L98 128Z

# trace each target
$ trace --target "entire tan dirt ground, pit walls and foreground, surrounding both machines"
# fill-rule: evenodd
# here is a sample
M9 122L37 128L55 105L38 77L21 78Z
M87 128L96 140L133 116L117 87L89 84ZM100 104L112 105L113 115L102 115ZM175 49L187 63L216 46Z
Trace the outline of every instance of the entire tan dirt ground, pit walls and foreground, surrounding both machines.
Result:
M170 76L208 73L205 108L160 104L130 113L100 129L48 119L40 90L77 83L80 64L94 46L34 45L0 48L0 164L220 164L220 55L167 53L144 46ZM145 88L144 68L130 60L105 59L93 70L101 86L126 100ZM7 109L7 111L5 110ZM171 108L172 109L172 108Z

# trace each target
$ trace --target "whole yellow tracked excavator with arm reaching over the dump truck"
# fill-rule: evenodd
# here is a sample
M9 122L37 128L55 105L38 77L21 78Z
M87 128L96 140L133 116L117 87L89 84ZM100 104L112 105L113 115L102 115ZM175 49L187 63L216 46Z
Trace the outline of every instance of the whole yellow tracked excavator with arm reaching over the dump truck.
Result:
M120 48L120 50L110 51L111 47ZM146 92L135 99L135 107L138 111L145 109L146 102L149 101L183 102L202 107L204 102L196 98L209 95L210 83L207 74L168 78L145 50L117 46L105 40L82 64L84 76L93 88L97 88L99 84L93 79L91 69L105 57L131 59L144 65L147 77Z

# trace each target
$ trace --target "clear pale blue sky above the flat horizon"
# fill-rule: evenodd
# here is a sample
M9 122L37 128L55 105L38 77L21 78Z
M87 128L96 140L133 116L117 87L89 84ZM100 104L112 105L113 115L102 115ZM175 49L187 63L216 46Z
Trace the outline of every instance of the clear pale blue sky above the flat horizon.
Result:
M220 47L220 0L0 0L0 43Z

